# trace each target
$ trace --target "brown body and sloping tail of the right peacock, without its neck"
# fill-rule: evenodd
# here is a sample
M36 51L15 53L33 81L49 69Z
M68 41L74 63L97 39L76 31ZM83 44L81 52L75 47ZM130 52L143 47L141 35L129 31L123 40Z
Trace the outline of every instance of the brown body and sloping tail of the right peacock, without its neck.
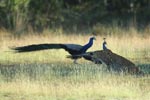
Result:
M124 72L130 74L144 74L139 67L137 67L130 60L113 53L111 50L99 50L94 52L87 52L81 55L86 60L90 60L95 64L106 64L109 71Z

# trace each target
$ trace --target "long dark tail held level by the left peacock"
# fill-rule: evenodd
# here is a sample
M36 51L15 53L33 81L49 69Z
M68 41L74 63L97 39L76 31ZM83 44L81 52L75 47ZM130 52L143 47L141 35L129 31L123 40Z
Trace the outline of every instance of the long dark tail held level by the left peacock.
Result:
M19 53L46 50L46 49L61 49L61 48L63 48L63 44L35 44L21 47L10 47L11 50L15 50L15 52Z

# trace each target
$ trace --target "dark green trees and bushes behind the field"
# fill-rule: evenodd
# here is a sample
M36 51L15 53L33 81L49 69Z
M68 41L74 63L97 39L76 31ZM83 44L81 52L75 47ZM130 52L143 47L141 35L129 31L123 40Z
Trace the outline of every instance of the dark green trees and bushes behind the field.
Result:
M149 23L150 0L0 0L0 28L17 34L85 31L97 24L143 30Z

